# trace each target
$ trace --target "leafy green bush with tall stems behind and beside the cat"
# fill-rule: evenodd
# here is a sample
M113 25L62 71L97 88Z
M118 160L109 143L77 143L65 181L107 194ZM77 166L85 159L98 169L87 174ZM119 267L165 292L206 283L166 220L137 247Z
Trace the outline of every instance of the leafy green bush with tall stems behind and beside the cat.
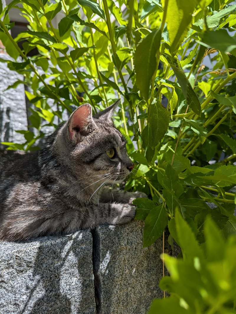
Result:
M29 30L15 39L9 33L12 8L29 22ZM75 105L90 102L96 112L121 98L115 124L127 136L128 153L136 163L125 188L151 198L134 201L136 219L145 220L144 247L160 237L167 225L170 244L173 239L178 242L181 225L189 234L191 228L189 247L196 246L195 237L205 242L204 232L209 233L211 226L215 230L214 223L225 236L235 232L235 10L230 0L99 0L99 4L14 0L6 8L0 6L0 39L15 59L1 61L24 75L24 82L9 88L22 83L30 88L26 95L32 103L29 119L34 128L34 132L22 131L24 144L12 143L8 149L37 149L35 141L44 136L41 127L55 126L55 117L61 121L63 112L72 112ZM61 12L64 17L55 25L53 19ZM29 57L35 47L38 55ZM49 99L57 109L52 109ZM175 218L176 209L189 227ZM204 227L206 215L212 220ZM218 231L214 234L218 237ZM185 244L178 243L185 251ZM214 247L221 254L220 246ZM204 260L206 271L210 263L198 251L196 258ZM220 255L222 263L230 260L227 254ZM188 258L191 254L184 261L165 258L175 274L179 267L181 280L186 264L190 276L198 271L198 260ZM172 279L162 281L170 292L177 289ZM228 277L225 280L229 284ZM217 300L217 293L212 300ZM168 302L181 298L188 300L184 291ZM193 310L196 313L205 306L204 293L199 298L202 310ZM208 311L215 312L214 307Z

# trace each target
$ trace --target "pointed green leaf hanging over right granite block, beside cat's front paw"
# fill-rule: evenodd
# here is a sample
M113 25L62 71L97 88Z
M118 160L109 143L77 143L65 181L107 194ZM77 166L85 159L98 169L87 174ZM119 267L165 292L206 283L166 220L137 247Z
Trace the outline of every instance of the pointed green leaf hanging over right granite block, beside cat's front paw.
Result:
M147 247L159 238L168 222L164 203L152 208L145 219L143 247Z

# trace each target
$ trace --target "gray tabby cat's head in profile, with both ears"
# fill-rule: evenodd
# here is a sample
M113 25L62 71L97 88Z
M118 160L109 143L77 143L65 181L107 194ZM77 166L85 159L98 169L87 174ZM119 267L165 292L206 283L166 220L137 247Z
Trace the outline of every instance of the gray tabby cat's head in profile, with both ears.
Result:
M123 180L133 170L126 139L112 121L118 102L95 116L90 104L81 105L62 127L56 138L57 150L75 173L82 171L94 179L106 174L109 183Z

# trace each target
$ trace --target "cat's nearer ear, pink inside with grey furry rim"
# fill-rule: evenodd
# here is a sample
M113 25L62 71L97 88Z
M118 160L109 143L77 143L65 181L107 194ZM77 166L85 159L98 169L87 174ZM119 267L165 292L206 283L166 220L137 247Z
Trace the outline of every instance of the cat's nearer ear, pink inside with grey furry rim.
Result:
M92 106L83 104L79 106L70 116L68 122L68 137L72 142L79 142L94 128L92 118Z

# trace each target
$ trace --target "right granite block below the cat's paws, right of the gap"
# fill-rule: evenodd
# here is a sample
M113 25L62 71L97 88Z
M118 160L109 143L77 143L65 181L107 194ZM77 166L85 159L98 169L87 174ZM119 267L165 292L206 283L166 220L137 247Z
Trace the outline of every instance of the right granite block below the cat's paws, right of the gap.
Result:
M162 298L162 239L143 248L144 222L100 226L95 237L95 279L98 313L147 313L154 298ZM96 293L96 292L95 292Z

